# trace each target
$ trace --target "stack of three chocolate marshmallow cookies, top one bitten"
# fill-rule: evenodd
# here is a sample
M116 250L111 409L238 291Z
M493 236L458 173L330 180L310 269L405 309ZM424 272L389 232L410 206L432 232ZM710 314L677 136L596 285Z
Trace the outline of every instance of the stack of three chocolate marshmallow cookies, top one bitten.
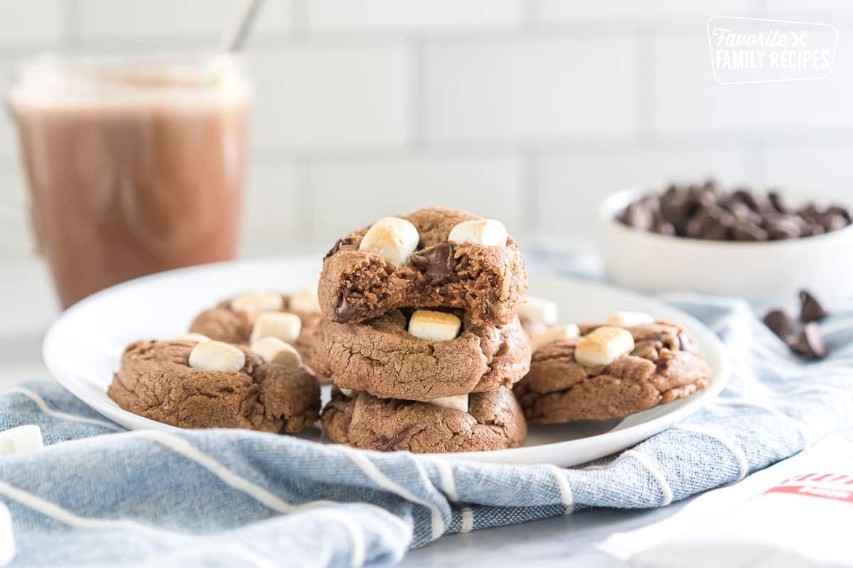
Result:
M334 382L328 439L370 450L513 448L510 390L531 344L518 318L524 261L500 221L456 209L386 217L323 261L313 364Z

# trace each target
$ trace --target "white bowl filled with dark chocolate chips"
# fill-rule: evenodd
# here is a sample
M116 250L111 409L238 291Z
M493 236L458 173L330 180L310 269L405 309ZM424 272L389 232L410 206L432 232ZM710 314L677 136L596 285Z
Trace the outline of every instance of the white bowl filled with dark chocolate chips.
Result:
M626 288L764 305L803 289L826 301L853 295L853 226L843 205L706 181L624 190L606 199L600 215L608 276Z

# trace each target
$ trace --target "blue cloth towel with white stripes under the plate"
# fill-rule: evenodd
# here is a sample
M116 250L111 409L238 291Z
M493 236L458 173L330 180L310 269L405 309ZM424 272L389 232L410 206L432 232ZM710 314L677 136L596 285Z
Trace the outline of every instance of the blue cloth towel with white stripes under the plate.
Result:
M804 364L742 301L670 295L734 359L717 402L588 468L457 464L228 430L124 432L61 387L0 397L0 429L47 446L0 458L18 565L393 565L438 537L572 513L652 508L738 479L850 424L853 307Z

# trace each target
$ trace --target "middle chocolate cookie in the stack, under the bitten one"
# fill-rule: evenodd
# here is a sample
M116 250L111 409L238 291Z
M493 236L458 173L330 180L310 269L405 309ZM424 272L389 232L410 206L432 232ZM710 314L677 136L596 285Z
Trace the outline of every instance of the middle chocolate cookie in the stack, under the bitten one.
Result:
M531 347L518 318L506 325L477 325L456 314L461 332L438 342L407 331L410 310L363 324L324 318L317 328L316 371L339 387L410 400L494 391L525 376Z

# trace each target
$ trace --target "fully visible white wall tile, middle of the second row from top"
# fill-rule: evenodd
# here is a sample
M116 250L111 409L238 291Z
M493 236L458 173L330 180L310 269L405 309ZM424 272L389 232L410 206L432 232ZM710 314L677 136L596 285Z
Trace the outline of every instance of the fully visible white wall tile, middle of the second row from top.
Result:
M430 142L583 140L635 129L632 37L525 38L424 49Z

